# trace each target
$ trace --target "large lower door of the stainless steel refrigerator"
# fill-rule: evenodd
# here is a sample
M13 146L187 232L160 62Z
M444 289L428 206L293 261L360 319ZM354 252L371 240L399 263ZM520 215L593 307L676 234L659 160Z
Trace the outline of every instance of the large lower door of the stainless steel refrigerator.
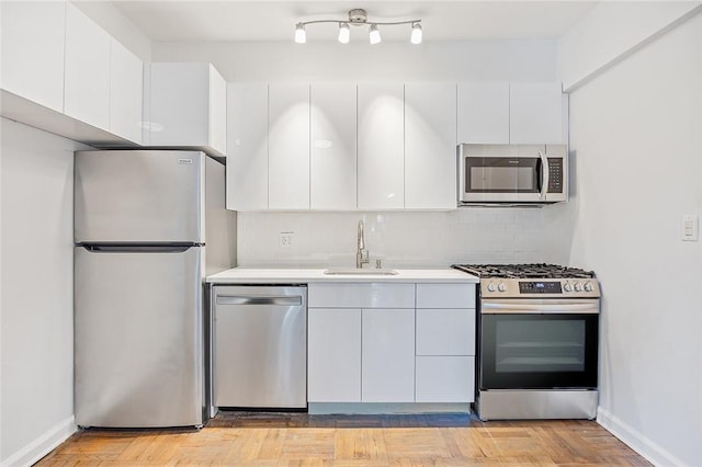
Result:
M76 423L203 423L202 251L75 250Z

